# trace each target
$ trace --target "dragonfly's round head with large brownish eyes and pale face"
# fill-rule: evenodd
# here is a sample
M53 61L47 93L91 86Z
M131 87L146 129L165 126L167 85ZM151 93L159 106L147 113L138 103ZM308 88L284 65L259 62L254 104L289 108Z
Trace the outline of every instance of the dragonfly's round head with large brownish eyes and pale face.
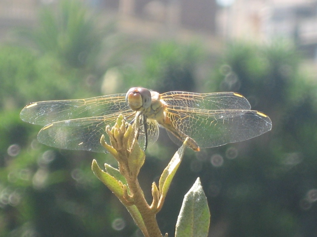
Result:
M142 87L133 87L126 93L126 102L134 111L147 109L151 106L151 92Z

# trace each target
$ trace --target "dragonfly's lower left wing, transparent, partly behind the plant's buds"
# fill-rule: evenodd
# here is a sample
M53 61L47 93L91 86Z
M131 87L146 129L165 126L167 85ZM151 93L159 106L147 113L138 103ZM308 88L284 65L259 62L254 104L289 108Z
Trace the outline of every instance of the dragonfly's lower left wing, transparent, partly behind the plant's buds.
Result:
M129 116L130 114L123 115ZM112 127L118 115L119 113L115 113L107 116L54 122L43 127L37 138L40 143L56 148L106 152L100 144L100 137L105 134L105 140L110 144L105 128L107 125Z

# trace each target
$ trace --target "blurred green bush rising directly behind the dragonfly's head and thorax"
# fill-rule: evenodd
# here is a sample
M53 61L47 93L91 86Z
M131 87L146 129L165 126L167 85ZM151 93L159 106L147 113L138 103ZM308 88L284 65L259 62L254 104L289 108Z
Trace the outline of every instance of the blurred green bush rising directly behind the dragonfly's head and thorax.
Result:
M173 41L161 42L152 47L144 59L144 78L152 81L153 90L193 91L194 72L202 55L197 44L182 46Z

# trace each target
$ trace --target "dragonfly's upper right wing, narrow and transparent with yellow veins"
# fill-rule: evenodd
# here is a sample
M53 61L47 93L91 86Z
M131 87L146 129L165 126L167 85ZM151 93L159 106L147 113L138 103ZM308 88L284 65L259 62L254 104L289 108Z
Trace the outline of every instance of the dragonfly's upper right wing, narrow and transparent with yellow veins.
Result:
M161 99L171 106L205 110L251 109L249 101L243 95L235 92L193 93L170 91L161 94Z

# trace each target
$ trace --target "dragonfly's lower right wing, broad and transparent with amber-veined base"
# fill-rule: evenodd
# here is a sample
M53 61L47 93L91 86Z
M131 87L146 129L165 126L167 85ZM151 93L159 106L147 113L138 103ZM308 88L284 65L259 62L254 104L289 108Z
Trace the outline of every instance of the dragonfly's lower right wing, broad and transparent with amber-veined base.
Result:
M241 142L272 128L271 119L254 110L209 111L168 106L166 111L176 130L194 139L200 148ZM184 139L184 136L180 137ZM177 140L176 143L179 144Z

